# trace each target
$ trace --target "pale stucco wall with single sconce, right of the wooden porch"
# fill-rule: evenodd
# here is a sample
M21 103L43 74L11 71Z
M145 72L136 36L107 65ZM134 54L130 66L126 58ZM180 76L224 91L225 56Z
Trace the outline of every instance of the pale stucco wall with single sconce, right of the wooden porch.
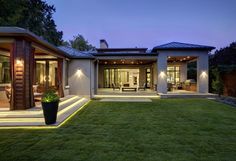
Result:
M80 71L80 72L79 72ZM69 62L69 94L92 97L94 94L94 64L89 59Z

